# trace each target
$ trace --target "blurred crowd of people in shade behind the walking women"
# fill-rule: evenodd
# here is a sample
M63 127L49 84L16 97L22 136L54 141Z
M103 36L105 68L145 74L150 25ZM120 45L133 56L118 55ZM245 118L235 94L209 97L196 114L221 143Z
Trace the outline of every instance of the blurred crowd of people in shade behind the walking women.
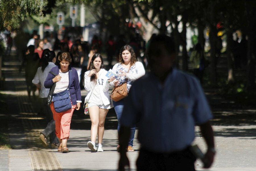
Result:
M115 64L119 59L119 50L125 44L129 44L135 51L136 58L139 58L146 67L146 63L143 61L144 56L141 57L141 52L144 52L144 41L139 38L138 35L131 36L131 38L126 39L124 35L120 35L118 37L114 37L112 35L109 36L106 44L102 43L102 40L98 38L97 35L94 35L91 42L86 42L83 40L81 35L72 35L68 32L63 32L62 30L58 30L56 34L53 32L46 32L44 37L41 38L40 35L34 31L31 35L31 38L28 39L27 34L18 33L16 35L16 51L19 59L22 61L22 67L25 66L26 62L26 48L29 46L34 46L34 53L37 53L39 56L39 66L42 65L42 57L48 51L54 51L56 54L56 58L58 59L60 52L69 52L72 58L71 66L74 67L79 74L79 83L81 88L83 88L83 76L84 73L89 70L90 60L92 56L96 53L106 52L107 62L106 68L111 68L113 64ZM9 38L10 37L10 38ZM27 40L26 47L21 45L20 38L23 40ZM8 48L6 50L7 55L10 54L10 49L12 46L11 36L8 36ZM23 42L24 44L24 42ZM143 54L143 53L142 53ZM114 61L114 63L112 63ZM58 60L56 60L56 64ZM20 68L21 71L21 68ZM29 71L28 71L29 72ZM26 72L28 74L28 72ZM34 71L31 70L31 74L35 74Z

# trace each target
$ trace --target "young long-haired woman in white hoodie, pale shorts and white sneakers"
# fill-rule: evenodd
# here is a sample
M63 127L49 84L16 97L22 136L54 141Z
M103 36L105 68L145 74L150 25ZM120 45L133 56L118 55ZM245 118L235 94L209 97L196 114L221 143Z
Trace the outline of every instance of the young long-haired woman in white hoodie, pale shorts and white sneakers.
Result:
M104 135L104 123L108 110L111 108L108 93L109 83L107 71L104 68L103 59L100 54L94 54L90 62L90 70L84 73L84 89L88 91L85 102L88 102L88 110L91 126L91 141L87 145L91 151L103 152L102 139ZM98 135L98 149L95 146Z

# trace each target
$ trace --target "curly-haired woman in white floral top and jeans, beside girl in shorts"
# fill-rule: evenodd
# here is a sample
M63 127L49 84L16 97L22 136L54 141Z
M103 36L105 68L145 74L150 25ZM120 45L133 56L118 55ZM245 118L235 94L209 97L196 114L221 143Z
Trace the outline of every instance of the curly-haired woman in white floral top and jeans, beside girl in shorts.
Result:
M110 83L110 86L119 86L123 83L127 83L127 91L131 88L131 85L135 80L145 75L145 69L141 62L137 62L135 52L133 48L129 45L125 45L121 48L119 52L119 63L113 66L113 72L118 76L115 80ZM113 101L115 113L117 115L118 126L117 131L120 129L120 118L123 111L124 99L121 99L117 102ZM133 139L135 134L135 125L131 128L131 137L129 138L129 143L127 151L133 150ZM119 150L119 145L117 146Z

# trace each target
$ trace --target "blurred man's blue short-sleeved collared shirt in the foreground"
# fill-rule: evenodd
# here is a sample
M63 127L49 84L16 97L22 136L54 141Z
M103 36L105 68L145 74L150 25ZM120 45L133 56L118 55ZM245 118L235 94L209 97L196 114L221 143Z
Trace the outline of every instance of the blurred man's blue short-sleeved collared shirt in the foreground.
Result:
M121 125L137 123L143 148L172 152L189 146L195 125L212 119L210 107L199 81L173 69L164 85L149 73L132 85L125 100Z

